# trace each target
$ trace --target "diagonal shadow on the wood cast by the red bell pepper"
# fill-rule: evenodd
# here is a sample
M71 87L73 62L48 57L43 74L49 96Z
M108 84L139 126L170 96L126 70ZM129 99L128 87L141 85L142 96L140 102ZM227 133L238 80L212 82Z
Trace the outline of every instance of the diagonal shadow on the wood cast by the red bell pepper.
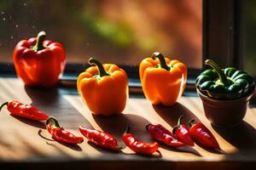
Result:
M79 125L92 127L90 122L79 111L75 110L67 99L62 97L62 93L65 93L66 89L26 86L24 88L26 94L32 99L32 105L38 107L40 111L44 111L49 116L55 116L61 126L76 130L78 130Z

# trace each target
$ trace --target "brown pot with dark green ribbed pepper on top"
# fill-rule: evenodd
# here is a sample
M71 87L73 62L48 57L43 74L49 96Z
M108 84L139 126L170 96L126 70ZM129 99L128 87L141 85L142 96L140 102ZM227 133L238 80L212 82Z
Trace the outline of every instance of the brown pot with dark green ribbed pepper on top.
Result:
M255 84L247 72L228 67L221 69L214 61L212 67L196 78L195 85L207 119L215 126L235 126L246 115Z

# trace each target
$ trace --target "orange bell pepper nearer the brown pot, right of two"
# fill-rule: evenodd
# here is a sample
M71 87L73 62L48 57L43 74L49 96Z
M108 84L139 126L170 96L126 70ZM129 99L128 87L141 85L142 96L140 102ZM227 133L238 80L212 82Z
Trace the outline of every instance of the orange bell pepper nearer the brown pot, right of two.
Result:
M177 59L170 60L155 52L139 66L143 93L153 105L174 105L183 94L187 67Z

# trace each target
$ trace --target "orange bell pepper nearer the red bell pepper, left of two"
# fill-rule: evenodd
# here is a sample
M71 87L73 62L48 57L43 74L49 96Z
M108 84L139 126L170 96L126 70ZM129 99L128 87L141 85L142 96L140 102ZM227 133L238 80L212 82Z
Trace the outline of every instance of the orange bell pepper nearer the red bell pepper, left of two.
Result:
M125 109L128 98L128 77L117 65L102 65L90 58L91 66L77 80L79 94L95 115L110 116Z

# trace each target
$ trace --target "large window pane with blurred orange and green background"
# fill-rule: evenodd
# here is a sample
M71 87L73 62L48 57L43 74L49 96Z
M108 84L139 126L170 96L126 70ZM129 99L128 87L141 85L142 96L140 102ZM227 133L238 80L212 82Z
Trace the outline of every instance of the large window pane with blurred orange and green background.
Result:
M63 43L67 63L138 65L160 51L201 68L202 0L0 0L0 19L0 62L44 30Z

